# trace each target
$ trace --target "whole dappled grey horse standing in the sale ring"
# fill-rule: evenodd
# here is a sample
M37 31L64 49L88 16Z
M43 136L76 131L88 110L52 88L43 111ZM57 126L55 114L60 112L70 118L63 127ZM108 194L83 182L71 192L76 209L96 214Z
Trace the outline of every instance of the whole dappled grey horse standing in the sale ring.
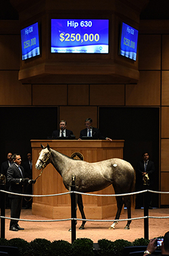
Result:
M62 153L59 153L49 147L41 144L41 152L35 165L36 169L45 168L49 163L55 167L57 172L62 176L64 186L71 190L72 175L76 176L76 191L78 192L95 192L102 190L107 186L114 187L115 194L126 194L135 191L135 169L130 163L120 159L112 158L96 163L74 160ZM128 210L128 219L131 218L131 203L134 203L135 196L116 196L117 213L116 218L120 218L122 206ZM86 219L83 211L82 196L78 194L78 207L82 219ZM86 221L82 221L80 229L84 229ZM118 221L114 221L111 229L115 228ZM127 221L125 229L130 229L131 220Z

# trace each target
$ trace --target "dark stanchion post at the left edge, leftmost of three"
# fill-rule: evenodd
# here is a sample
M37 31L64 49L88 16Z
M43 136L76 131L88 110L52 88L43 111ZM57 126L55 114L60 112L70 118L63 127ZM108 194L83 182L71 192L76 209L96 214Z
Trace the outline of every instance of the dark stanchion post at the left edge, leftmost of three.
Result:
M1 174L1 179L0 179L1 185L0 188L1 190L5 190L5 175ZM5 217L5 193L1 192L1 216ZM5 219L1 218L1 238L5 238Z

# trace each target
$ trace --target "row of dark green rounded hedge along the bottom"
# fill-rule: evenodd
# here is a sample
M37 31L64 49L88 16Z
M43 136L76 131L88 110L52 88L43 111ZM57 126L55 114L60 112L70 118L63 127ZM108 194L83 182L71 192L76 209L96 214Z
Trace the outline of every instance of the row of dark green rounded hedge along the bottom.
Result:
M160 236L162 238L162 236ZM18 247L20 256L122 256L124 247L147 245L149 240L145 238L138 238L134 242L118 239L114 242L101 239L98 240L99 250L93 249L93 241L89 238L77 238L72 244L65 240L49 240L36 238L31 242L27 242L22 238L13 238L7 240L0 238L0 245L7 245ZM19 255L18 255L19 256Z

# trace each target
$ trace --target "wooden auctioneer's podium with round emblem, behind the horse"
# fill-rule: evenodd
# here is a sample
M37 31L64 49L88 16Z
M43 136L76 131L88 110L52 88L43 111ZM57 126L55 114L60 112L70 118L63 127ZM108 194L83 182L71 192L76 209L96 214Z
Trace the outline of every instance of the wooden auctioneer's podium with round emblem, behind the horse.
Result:
M32 175L35 179L41 171L35 169L35 163L39 158L41 144L71 156L74 152L80 152L84 161L97 162L109 158L123 158L124 140L31 140L32 146ZM42 175L34 184L33 193L36 195L61 194L68 192L62 182L62 177L57 173L51 163L45 167ZM114 194L113 186L93 192L93 194ZM115 196L86 196L82 195L84 213L87 219L104 219L115 215ZM77 217L81 218L80 212ZM41 215L50 219L65 219L71 217L70 194L59 196L33 197L32 214Z

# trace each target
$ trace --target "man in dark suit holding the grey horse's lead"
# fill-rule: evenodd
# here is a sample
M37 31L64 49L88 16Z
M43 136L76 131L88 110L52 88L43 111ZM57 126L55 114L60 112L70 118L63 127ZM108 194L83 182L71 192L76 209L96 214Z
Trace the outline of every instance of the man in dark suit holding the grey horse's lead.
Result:
M24 184L34 183L34 180L25 178L24 168L21 164L20 154L12 156L14 163L7 169L7 182L9 182L9 192L18 194L23 193ZM20 211L22 207L22 196L16 194L9 194L11 201L11 217L20 219ZM18 231L24 230L18 225L18 220L11 219L9 230Z

